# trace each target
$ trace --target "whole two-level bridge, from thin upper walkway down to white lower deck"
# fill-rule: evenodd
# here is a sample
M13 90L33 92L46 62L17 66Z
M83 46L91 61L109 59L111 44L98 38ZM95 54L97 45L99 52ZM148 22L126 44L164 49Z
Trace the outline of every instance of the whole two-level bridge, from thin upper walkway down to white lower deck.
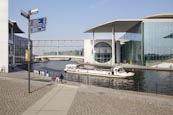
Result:
M83 40L33 40L34 61L71 60L83 62Z

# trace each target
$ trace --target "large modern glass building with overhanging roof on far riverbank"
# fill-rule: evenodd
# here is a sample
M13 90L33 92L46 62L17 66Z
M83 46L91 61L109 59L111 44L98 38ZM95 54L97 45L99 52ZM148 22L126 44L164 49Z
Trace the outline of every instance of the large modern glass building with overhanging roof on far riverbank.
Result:
M152 66L173 63L173 14L147 16L143 19L119 19L93 27L90 63L129 63ZM112 33L111 44L95 42L95 33ZM115 38L116 34L124 33ZM88 61L88 60L87 60Z

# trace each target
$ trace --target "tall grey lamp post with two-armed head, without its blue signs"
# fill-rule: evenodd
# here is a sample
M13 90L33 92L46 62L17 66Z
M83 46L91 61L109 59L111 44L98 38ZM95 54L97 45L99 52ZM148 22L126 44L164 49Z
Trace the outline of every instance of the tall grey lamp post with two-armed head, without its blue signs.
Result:
M29 59L28 61L28 93L30 93L30 67L31 67L31 41L30 41L30 34L31 34L31 30L30 30L30 17L33 14L37 14L38 13L38 9L33 9L33 10L29 10L28 13L26 13L25 11L21 10L21 15L23 17L25 17L26 19L28 19L28 55L29 55Z

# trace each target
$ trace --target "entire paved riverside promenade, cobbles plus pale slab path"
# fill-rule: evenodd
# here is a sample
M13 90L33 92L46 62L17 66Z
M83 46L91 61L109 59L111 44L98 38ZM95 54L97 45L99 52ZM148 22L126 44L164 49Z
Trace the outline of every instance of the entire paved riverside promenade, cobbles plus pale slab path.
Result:
M2 115L173 115L173 96L115 90L32 75L0 74Z

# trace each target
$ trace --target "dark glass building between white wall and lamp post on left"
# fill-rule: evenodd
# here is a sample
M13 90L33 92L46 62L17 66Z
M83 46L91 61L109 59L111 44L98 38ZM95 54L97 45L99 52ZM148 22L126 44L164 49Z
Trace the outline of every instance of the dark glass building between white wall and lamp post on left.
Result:
M16 64L23 64L25 62L25 50L28 47L28 40L24 37L18 36L16 34L24 33L17 25L16 22L9 20L9 40L8 40L8 65L9 71L11 66Z

